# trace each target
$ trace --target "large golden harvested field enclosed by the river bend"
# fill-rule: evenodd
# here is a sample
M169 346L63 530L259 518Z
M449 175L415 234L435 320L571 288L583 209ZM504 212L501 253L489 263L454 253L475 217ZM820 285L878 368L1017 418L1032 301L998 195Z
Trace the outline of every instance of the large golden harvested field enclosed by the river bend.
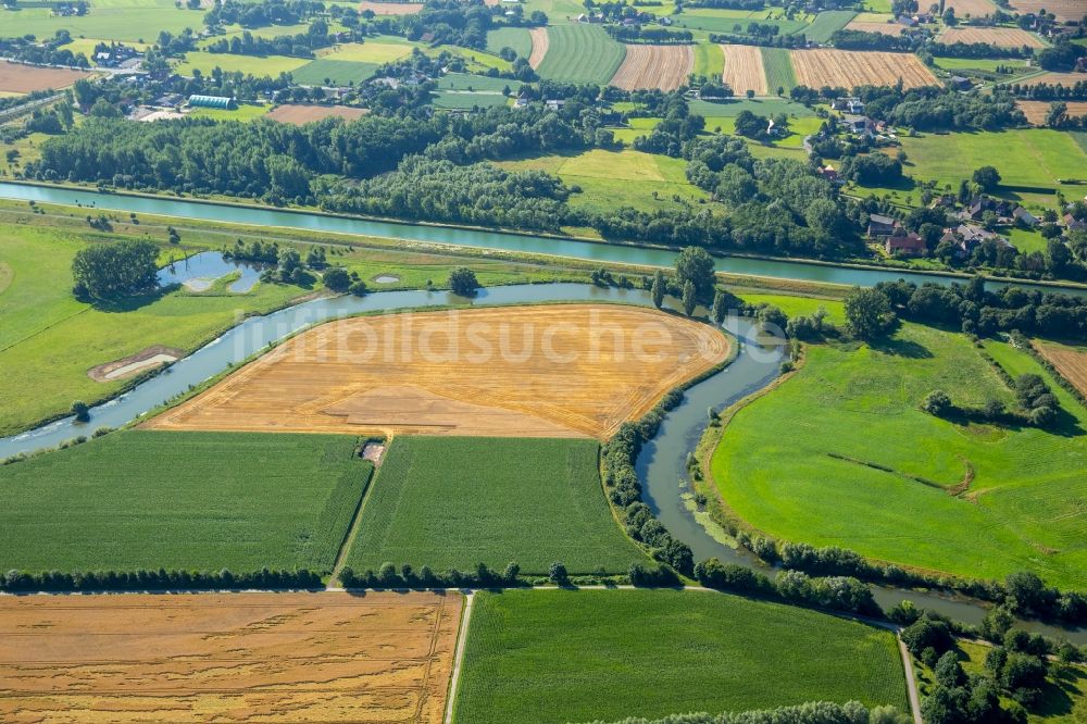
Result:
M146 425L604 439L727 352L707 325L613 304L355 317L284 342Z

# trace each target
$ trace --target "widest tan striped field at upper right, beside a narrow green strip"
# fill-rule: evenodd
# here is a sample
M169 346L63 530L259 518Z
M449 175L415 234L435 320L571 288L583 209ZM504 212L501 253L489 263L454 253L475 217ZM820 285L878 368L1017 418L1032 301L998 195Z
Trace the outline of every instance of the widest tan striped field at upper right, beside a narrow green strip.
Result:
M933 72L912 53L860 52L853 50L789 51L797 83L809 88L851 89L857 86L892 86L899 78L905 88L938 85Z

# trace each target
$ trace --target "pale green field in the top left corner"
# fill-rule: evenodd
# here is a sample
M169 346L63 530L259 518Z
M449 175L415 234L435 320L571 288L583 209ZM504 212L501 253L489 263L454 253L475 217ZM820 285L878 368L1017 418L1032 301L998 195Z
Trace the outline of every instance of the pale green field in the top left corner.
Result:
M122 0L88 3L82 17L53 16L48 8L0 10L0 37L34 35L39 39L53 37L57 30L67 30L73 38L109 38L112 40L154 42L162 30L174 35L185 28L199 32L203 12L182 10L173 0Z

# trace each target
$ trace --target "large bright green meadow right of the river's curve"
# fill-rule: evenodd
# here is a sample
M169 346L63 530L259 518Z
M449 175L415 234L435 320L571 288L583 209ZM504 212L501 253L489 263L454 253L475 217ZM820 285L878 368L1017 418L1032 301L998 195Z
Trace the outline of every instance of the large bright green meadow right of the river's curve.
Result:
M1026 352L986 350L1010 374L1048 377ZM717 489L769 535L971 577L1032 570L1087 585L1085 411L1051 383L1057 432L962 426L919 408L1011 392L961 335L907 324L876 348L812 346L801 371L740 410L712 459Z

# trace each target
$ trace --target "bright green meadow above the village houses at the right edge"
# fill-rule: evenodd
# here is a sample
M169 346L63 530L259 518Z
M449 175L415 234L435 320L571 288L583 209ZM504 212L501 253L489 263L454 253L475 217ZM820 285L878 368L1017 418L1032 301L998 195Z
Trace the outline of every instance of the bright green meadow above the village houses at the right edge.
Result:
M1001 187L996 194L1017 194L1027 201L1052 203L1052 196L1030 189L1062 188L1058 178L1080 177L1087 167L1087 153L1072 136L1050 128L933 134L921 138L903 137L901 142L910 160L907 173L919 180L934 178L940 186L954 186L962 178L963 168L992 165L1001 176ZM1024 189L1016 191L1012 187ZM1071 195L1077 187L1063 188Z

